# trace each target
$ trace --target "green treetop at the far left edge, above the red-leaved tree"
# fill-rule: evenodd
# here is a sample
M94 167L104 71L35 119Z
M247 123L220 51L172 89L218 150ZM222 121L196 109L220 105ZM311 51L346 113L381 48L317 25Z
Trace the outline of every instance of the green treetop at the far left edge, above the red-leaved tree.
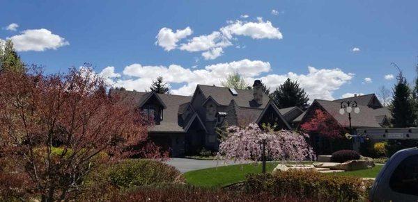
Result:
M0 73L4 71L24 72L24 64L13 48L13 42L0 41Z

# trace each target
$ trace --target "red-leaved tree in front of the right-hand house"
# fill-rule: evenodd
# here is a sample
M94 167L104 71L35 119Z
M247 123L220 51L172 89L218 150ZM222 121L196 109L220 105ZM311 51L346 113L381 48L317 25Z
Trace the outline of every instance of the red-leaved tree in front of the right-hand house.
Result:
M318 133L331 138L342 137L341 135L346 132L331 115L320 109L315 110L314 116L300 125L300 128L308 133Z

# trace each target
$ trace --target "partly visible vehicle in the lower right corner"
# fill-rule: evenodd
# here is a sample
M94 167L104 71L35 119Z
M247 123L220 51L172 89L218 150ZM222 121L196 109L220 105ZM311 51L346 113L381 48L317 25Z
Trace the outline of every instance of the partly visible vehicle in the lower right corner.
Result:
M370 201L418 201L418 147L396 152L382 168Z

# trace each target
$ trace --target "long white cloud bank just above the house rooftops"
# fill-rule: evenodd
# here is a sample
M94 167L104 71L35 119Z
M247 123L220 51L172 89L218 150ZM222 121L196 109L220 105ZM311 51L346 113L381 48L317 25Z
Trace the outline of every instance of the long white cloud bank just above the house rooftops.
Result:
M354 74L343 72L341 69L316 69L308 67L307 74L268 74L272 69L270 62L261 60L239 60L207 65L203 69L185 68L180 65L141 65L132 64L123 69L123 79L118 79L115 85L125 87L127 90L148 90L150 83L157 76L164 76L169 84L177 84L180 87L172 88L173 94L190 95L197 84L221 85L226 75L238 72L245 77L248 83L255 79L261 79L265 85L274 90L284 83L287 78L300 83L300 87L313 99L334 99L335 90L350 81ZM112 71L110 71L112 70ZM114 69L109 71L113 73ZM267 75L264 75L267 74Z

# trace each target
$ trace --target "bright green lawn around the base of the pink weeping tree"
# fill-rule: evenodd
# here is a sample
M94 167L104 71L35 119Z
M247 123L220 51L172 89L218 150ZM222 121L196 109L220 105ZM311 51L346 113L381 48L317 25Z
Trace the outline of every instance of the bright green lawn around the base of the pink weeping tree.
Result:
M304 164L309 162L302 162ZM271 172L278 162L268 162L266 169ZM346 171L330 175L339 176L357 176L362 178L375 178L382 165L376 165L373 169ZM201 169L189 171L184 174L187 183L201 187L223 187L245 180L247 174L261 173L261 164L244 164L215 167L210 169Z

